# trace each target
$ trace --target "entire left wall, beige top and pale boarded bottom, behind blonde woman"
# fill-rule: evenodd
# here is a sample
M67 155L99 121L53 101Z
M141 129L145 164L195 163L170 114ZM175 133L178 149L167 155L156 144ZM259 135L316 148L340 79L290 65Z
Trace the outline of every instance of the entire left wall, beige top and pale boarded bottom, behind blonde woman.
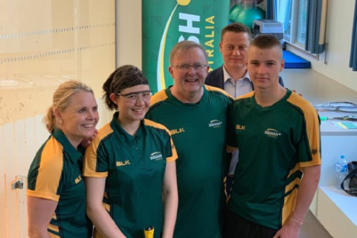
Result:
M81 80L94 89L115 69L115 2L0 0L0 237L26 238L26 176L48 138L42 118L55 89ZM11 184L22 179L24 189Z

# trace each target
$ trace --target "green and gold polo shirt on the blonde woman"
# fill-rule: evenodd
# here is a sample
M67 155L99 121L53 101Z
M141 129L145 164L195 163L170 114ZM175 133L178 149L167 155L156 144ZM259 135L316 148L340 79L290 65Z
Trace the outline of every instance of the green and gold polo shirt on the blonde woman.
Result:
M92 237L81 169L82 154L59 129L52 131L31 163L27 196L58 202L47 228L51 237Z

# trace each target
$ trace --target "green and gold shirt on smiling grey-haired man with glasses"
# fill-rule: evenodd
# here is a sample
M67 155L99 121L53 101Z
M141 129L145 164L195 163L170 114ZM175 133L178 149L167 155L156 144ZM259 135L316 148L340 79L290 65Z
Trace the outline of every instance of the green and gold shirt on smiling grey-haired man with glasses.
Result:
M169 128L178 159L178 212L175 238L222 236L226 126L233 99L203 86L198 103L182 103L170 88L151 98L147 118Z

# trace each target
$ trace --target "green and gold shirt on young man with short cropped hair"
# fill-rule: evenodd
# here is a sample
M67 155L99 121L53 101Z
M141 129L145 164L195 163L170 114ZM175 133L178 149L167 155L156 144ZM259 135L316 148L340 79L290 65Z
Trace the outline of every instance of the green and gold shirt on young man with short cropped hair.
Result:
M302 168L321 164L320 126L310 102L290 90L261 107L254 92L230 107L228 145L239 148L228 209L280 229L290 216Z

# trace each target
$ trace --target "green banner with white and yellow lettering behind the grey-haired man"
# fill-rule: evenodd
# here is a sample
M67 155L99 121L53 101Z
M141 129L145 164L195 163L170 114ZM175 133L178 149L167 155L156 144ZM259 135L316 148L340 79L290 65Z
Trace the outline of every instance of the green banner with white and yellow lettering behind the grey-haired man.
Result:
M169 55L182 40L205 47L211 68L221 66L221 30L228 24L230 0L142 0L142 70L151 90L172 85Z

